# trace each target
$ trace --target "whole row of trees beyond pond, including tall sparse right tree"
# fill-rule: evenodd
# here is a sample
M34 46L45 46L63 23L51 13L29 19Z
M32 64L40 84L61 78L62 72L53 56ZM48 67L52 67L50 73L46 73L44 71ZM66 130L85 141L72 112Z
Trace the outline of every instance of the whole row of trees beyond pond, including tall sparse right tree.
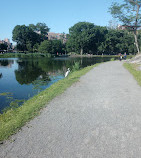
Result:
M54 54L75 52L77 54L136 54L141 45L141 0L113 2L109 8L111 15L121 22L124 30L96 26L90 22L78 22L69 29L67 42L49 41L49 28L45 23L17 25L13 30L13 41L18 50Z

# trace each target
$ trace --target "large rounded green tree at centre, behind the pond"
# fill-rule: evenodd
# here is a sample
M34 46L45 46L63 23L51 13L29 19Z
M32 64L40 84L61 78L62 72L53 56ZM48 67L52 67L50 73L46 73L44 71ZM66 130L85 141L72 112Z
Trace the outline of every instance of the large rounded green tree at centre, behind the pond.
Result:
M67 51L101 54L100 46L105 40L108 30L106 27L95 26L88 22L79 22L70 28L70 34L66 44Z

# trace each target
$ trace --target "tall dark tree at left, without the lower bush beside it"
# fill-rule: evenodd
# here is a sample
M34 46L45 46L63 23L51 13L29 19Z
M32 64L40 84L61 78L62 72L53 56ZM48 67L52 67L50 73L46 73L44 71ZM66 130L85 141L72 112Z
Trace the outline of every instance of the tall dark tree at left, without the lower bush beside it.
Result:
M12 32L13 41L17 42L17 49L21 51L33 51L36 44L47 40L49 28L44 23L30 24L29 26L17 25Z

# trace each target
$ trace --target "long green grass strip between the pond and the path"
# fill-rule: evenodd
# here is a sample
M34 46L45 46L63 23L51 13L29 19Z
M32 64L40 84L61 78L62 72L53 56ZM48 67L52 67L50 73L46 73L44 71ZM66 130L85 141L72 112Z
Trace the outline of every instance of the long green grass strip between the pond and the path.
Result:
M35 116L40 114L40 110L49 103L54 97L62 94L68 87L89 70L97 66L88 66L79 71L72 72L67 78L64 78L38 95L32 97L23 103L22 106L10 109L0 115L0 141L8 139L9 136L16 133L23 125Z

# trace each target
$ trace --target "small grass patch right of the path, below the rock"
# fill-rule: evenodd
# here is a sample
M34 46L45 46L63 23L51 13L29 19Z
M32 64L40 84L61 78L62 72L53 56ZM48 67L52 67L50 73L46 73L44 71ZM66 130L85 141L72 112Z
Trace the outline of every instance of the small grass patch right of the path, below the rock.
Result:
M124 63L124 67L134 76L138 84L141 86L141 71L138 70L137 64Z

